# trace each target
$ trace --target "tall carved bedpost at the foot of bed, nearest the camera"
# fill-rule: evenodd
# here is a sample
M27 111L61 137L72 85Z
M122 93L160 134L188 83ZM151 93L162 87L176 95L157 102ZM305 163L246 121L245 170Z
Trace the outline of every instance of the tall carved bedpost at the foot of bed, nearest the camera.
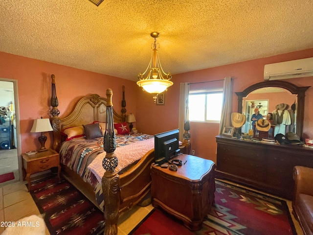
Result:
M115 170L118 160L114 154L116 149L116 140L113 126L113 92L107 89L107 127L104 134L104 151L106 156L102 161L102 166L105 169L102 177L102 190L104 196L104 218L105 229L104 235L117 235L117 222L120 206L119 183L120 179Z

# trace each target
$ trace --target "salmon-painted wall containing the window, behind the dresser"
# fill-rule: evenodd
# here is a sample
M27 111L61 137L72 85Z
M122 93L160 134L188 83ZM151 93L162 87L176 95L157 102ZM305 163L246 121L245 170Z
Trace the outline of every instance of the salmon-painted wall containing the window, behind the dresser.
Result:
M233 112L237 112L237 96L234 92L242 92L247 87L264 81L264 65L313 57L313 48L235 63L200 71L191 71L173 75L174 85L166 92L165 106L156 106L151 94L137 88L137 128L145 133L156 134L178 128L179 120L179 83L202 82L233 77ZM170 71L170 69L168 69ZM297 86L313 86L313 78L287 79ZM303 137L313 138L313 87L306 92ZM216 162L216 140L219 125L216 123L191 122L191 149L197 156Z

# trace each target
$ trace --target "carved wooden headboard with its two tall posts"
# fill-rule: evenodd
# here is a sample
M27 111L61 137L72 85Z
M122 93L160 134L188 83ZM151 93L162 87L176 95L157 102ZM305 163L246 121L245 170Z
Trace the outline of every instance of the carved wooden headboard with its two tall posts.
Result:
M81 97L75 104L73 110L67 117L59 118L60 111L57 109L58 101L56 98L56 92L53 91L55 87L54 75L52 77L52 95L55 97L51 98L52 105L52 128L53 128L53 149L59 151L60 145L65 138L61 135L61 131L73 126L81 126L82 124L90 124L94 121L106 122L106 112L107 112L107 98L102 97L98 94L90 94ZM54 86L53 86L54 84ZM55 88L54 88L55 89ZM123 102L122 105L126 105L124 100L124 86L123 86ZM54 102L52 101L54 99ZM56 101L55 101L56 99ZM122 114L119 115L115 110L113 110L114 122L124 122L126 121L126 109L125 106L122 107Z

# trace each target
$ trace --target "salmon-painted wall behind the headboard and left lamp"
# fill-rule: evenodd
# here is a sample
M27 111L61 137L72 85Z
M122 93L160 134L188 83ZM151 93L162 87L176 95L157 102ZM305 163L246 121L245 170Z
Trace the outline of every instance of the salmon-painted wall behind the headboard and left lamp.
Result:
M61 118L81 96L106 97L107 88L113 91L113 108L121 113L122 85L125 86L127 114L136 111L134 91L137 86L133 81L0 52L0 77L18 80L22 152L40 148L39 134L30 133L30 129L33 119L49 118L51 74L56 79ZM52 132L46 136L45 147L52 147Z

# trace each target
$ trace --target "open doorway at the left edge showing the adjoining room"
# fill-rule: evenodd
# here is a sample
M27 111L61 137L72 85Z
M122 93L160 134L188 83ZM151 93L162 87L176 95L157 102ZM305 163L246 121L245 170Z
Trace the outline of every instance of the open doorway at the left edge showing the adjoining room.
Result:
M0 78L0 187L22 175L17 80Z

